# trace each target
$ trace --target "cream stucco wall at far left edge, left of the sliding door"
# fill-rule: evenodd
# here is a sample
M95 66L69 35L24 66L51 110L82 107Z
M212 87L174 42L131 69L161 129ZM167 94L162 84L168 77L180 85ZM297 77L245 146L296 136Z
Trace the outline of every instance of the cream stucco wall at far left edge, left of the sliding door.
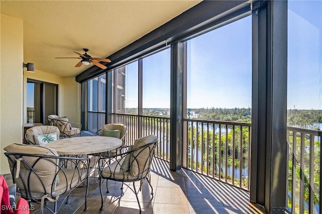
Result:
M23 21L1 15L0 174L10 173L4 147L23 135Z

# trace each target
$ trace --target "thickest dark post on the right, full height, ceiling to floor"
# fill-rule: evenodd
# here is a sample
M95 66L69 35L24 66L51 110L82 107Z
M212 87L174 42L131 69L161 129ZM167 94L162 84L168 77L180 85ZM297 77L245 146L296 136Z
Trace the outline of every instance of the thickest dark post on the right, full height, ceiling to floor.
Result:
M287 191L287 1L253 11L250 199L285 213Z

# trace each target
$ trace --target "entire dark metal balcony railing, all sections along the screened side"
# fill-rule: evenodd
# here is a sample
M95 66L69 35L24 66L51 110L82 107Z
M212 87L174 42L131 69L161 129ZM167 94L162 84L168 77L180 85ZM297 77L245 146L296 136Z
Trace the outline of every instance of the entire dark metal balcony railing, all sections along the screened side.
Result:
M148 134L160 139L157 157L169 161L170 118L114 114L128 127L126 144ZM184 119L185 168L249 191L251 123ZM291 213L321 213L322 131L287 127L288 191Z

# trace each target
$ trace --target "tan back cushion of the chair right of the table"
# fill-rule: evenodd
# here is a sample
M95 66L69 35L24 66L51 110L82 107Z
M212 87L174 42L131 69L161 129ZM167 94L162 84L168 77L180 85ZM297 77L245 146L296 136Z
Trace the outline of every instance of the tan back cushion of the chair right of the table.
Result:
M157 140L157 137L155 135L148 135L146 137L136 139L132 147L132 150L149 144L155 140ZM153 153L153 146L154 145L150 145L149 148L139 149L133 152L133 155L131 156L130 160L130 162L133 162L132 168L130 169L133 176L136 176L139 173L143 173L149 167L149 162L151 160L148 160L147 158L152 158L152 154L149 153Z

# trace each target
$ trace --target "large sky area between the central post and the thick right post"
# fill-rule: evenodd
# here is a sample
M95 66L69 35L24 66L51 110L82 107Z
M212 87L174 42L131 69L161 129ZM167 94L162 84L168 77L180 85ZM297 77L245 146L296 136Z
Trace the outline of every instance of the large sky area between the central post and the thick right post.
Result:
M252 106L252 19L188 41L187 108Z

